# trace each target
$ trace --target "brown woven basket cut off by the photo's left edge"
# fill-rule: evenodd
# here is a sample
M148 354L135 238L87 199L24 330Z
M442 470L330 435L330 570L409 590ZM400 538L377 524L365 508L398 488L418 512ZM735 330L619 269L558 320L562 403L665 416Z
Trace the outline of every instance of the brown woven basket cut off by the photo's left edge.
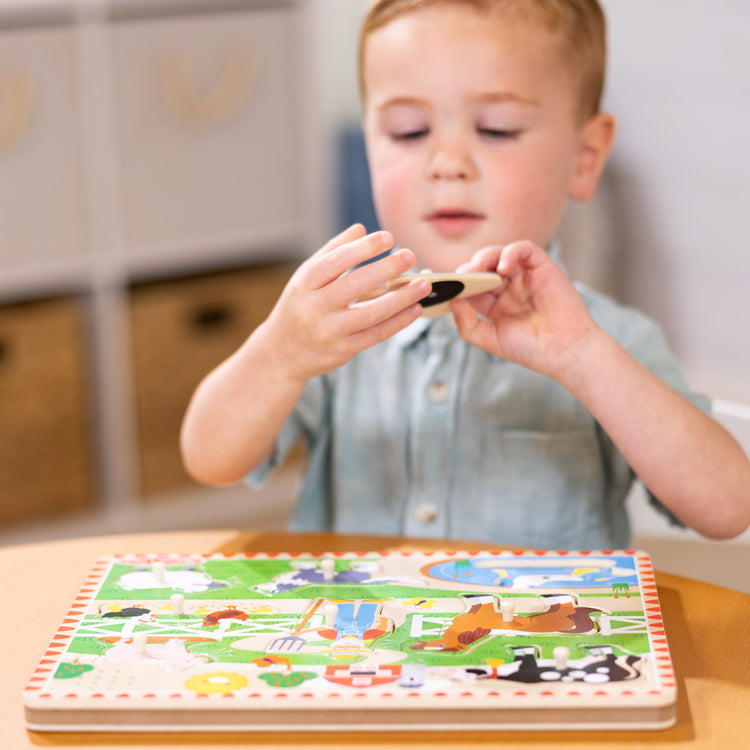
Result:
M0 307L0 524L94 501L85 334L74 298Z

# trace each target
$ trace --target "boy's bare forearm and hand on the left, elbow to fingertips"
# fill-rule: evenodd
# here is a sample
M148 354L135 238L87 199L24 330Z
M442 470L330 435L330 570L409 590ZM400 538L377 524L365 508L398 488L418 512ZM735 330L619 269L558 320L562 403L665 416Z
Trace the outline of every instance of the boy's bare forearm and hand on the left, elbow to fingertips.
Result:
M387 339L422 312L427 279L352 304L414 265L388 250L386 232L355 225L334 237L293 274L271 314L196 389L183 422L185 467L199 482L229 485L271 455L276 436L307 381Z

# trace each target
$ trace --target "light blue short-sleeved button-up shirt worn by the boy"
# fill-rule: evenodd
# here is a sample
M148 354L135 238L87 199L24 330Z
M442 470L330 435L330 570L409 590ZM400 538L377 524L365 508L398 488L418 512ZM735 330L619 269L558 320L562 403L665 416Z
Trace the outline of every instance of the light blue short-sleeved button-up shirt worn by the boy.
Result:
M708 410L652 321L579 292L604 330ZM248 482L262 484L301 437L309 467L295 530L629 546L633 473L591 413L554 380L467 344L451 315L420 318L310 380Z

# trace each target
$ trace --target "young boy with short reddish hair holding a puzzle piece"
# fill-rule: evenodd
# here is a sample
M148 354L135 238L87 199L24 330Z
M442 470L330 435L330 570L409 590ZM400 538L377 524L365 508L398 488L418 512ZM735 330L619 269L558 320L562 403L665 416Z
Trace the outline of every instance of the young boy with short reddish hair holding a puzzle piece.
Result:
M741 533L740 447L655 325L557 265L564 204L592 196L614 136L596 0L380 0L360 69L385 230L304 262L199 386L191 474L260 482L304 437L298 529L624 547L635 474L685 525ZM435 319L424 279L361 301L415 264L504 282Z

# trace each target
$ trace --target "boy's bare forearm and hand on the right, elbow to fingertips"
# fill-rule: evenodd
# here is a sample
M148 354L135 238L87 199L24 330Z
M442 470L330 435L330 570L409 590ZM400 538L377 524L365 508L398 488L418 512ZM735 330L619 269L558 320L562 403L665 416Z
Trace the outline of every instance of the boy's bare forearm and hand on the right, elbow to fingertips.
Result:
M715 539L748 528L750 463L742 448L599 328L544 250L530 242L485 248L457 270L506 279L499 289L453 303L466 341L567 388L643 484L688 526Z

